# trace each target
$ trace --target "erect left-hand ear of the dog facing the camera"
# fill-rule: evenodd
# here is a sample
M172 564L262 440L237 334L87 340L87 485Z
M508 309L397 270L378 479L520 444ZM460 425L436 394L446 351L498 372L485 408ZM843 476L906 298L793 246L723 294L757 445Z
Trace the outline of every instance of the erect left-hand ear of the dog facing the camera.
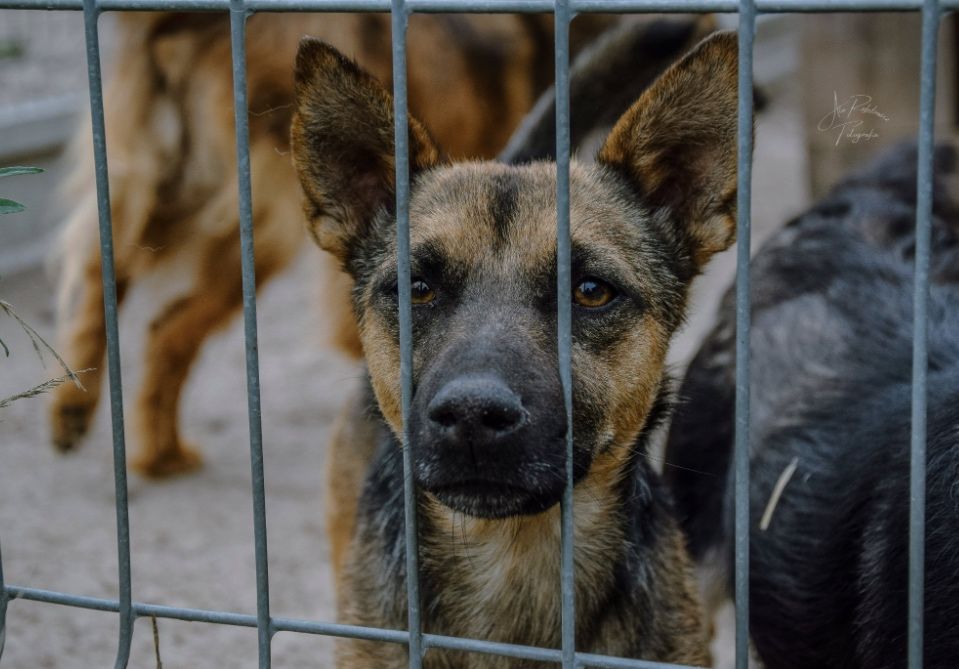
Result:
M381 209L395 204L393 98L333 47L304 38L296 54L293 164L317 243L348 263ZM409 117L410 173L436 165L439 151Z

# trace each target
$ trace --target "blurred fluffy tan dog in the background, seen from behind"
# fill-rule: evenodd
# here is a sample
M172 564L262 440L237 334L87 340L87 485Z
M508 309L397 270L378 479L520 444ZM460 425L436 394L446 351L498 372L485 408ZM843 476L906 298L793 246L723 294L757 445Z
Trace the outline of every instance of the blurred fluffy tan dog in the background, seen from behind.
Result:
M615 21L599 15L577 19L573 52ZM355 55L381 81L392 76L388 15L250 18L247 85L258 286L304 245L299 186L286 155L293 94L289 64L304 34ZM118 300L157 269L168 279L187 280L152 319L135 405L140 445L131 466L163 477L200 464L199 452L180 434L180 396L203 343L242 301L229 19L123 14L117 52L105 114ZM552 80L552 16L418 14L410 20L408 56L411 109L451 156L492 158ZM443 104L435 104L440 94ZM77 447L89 427L106 345L87 129L78 131L75 145L75 183L58 260L59 350L73 368L94 371L84 375L86 391L70 384L53 393L52 440L60 451ZM349 282L335 268L326 268L324 277L334 343L359 356Z

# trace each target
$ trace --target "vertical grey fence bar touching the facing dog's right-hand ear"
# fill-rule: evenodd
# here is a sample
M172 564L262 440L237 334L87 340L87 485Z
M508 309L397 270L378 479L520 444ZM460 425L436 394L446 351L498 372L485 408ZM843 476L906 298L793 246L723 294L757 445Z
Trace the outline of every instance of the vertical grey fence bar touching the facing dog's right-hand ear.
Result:
M756 6L739 5L739 158L736 201L736 669L749 666L749 246Z

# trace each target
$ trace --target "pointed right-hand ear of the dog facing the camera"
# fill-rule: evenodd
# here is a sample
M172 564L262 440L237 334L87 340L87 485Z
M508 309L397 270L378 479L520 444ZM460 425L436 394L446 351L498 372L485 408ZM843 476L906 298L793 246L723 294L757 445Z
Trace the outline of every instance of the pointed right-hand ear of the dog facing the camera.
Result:
M619 119L597 160L667 209L697 268L736 240L739 52L720 32L669 68Z

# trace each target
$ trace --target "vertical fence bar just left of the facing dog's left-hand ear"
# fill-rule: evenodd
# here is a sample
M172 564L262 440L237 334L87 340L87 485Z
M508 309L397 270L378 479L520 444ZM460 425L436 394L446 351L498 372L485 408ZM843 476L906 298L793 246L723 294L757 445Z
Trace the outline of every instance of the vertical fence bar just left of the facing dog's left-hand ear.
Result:
M244 0L230 0L233 58L233 113L236 123L237 190L240 212L240 262L243 278L243 333L246 340L246 394L253 479L253 544L256 558L256 627L260 669L269 669L273 625L266 544L266 491L263 477L263 428L260 421L260 361L256 333L256 260L253 255L253 196L250 189L250 128L246 99L246 18Z

